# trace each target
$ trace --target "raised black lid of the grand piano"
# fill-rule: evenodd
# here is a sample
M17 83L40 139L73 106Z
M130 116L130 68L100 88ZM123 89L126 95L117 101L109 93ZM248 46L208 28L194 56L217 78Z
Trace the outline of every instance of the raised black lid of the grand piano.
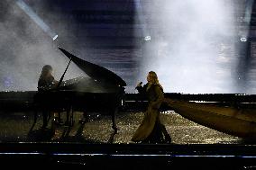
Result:
M71 59L81 70L83 70L88 76L92 77L96 81L99 81L108 85L126 86L126 83L120 76L114 74L114 72L100 67L96 64L85 61L81 58L74 56L65 49L59 48L69 59Z

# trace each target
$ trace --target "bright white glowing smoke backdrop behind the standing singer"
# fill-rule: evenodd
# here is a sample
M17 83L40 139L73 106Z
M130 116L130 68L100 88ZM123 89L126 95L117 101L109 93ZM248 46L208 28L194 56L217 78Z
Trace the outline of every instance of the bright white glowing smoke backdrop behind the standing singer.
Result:
M165 92L233 93L233 54L238 50L235 5L232 0L144 3L143 15L152 28L146 36L154 40L143 44L138 82L146 82L148 72L153 70Z

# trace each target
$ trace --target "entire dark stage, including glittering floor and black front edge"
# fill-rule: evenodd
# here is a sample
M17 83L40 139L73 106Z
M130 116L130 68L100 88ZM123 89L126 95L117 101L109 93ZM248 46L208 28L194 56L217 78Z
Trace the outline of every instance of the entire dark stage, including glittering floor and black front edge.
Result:
M12 94L13 93L13 94ZM87 112L87 122L79 123L82 112L74 112L74 125L55 125L49 121L41 130L42 115L32 128L33 111L30 93L2 93L0 114L0 157L3 165L33 165L41 167L76 167L105 169L253 169L255 146L253 140L241 139L206 128L178 115L163 106L161 120L172 138L171 144L135 144L131 141L140 125L144 107L136 102L138 94L126 94L126 102L116 113L114 133L111 116L100 112ZM12 95L8 95L12 94ZM12 96L16 94L16 99ZM168 98L196 101L204 99L229 105L230 99L242 108L254 108L254 95L234 94L165 94ZM4 100L5 96L5 100ZM9 96L6 97L6 96ZM23 96L23 97L21 97ZM242 104L243 103L243 104ZM249 104L251 103L251 104ZM23 107L22 107L23 106ZM95 106L96 107L96 106ZM17 108L21 109L20 112ZM61 113L61 119L66 119Z

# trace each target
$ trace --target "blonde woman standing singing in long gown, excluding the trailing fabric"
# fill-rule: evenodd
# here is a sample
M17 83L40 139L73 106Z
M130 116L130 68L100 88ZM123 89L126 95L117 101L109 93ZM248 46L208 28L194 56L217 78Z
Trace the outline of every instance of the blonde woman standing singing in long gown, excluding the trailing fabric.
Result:
M171 142L168 131L160 122L160 105L164 99L163 88L159 83L155 72L149 72L148 83L142 86L137 85L136 89L142 95L146 95L149 101L148 109L144 113L142 124L133 135L132 141L142 143L163 143ZM164 138L163 138L164 135Z

